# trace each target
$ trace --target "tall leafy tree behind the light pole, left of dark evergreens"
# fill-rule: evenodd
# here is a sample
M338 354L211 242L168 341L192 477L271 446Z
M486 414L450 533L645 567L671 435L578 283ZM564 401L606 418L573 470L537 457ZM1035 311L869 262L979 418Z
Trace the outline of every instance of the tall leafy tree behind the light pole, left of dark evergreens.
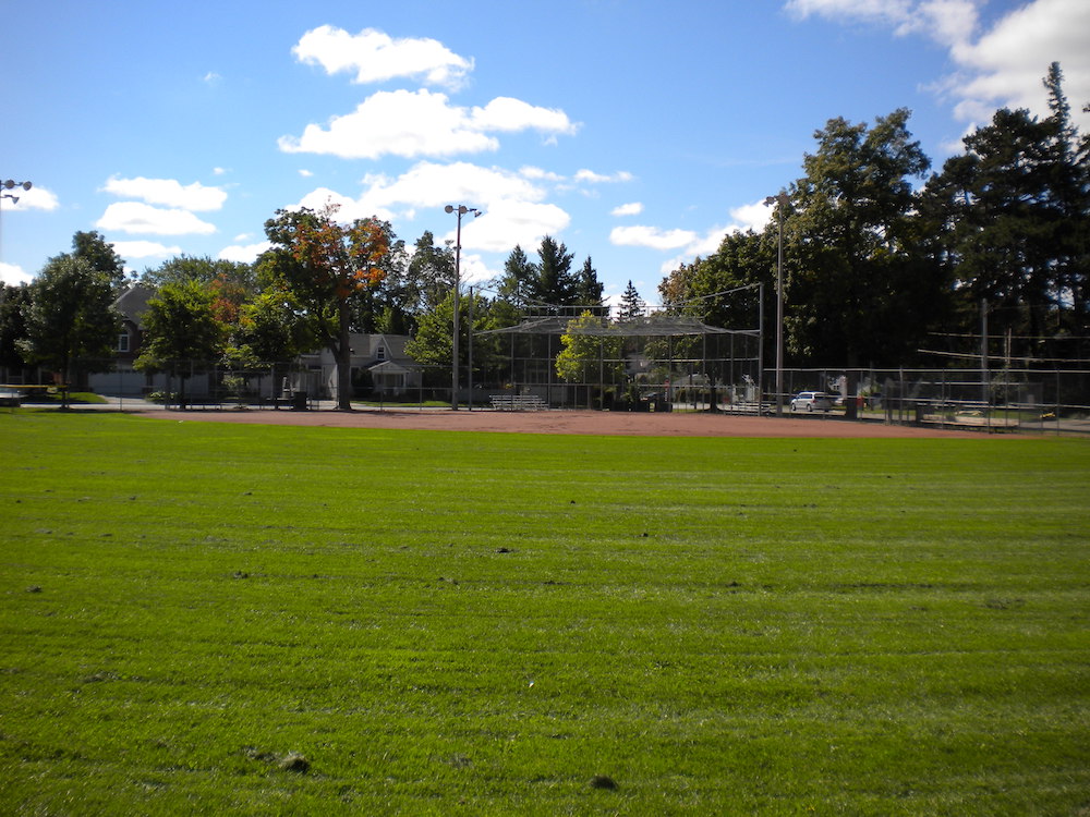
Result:
M788 342L814 364L897 364L916 346L933 297L920 293L912 179L930 160L909 111L872 126L832 119L814 134L784 217Z

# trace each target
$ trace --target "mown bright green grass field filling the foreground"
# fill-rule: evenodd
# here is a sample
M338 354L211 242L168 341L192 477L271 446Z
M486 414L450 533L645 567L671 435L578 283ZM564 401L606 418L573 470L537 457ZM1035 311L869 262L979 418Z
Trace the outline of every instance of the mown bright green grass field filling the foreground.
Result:
M1090 443L0 413L4 814L1087 814Z

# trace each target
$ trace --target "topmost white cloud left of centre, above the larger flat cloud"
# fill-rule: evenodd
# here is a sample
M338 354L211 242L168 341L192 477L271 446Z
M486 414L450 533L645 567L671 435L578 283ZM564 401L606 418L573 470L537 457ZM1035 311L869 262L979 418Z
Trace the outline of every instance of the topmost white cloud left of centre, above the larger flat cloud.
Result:
M395 39L375 28L353 35L323 25L304 34L292 53L300 62L320 65L327 74L355 72L353 82L361 84L412 77L453 88L473 70L473 60L459 57L438 40Z

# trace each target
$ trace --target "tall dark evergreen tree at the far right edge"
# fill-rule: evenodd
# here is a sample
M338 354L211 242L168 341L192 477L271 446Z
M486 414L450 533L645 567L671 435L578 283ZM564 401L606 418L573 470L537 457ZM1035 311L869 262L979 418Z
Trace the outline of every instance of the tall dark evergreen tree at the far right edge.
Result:
M921 197L932 249L954 273L962 330L1009 334L1016 357L1078 357L1087 320L1090 184L1063 73L1044 78L1051 115L1001 109L964 139Z

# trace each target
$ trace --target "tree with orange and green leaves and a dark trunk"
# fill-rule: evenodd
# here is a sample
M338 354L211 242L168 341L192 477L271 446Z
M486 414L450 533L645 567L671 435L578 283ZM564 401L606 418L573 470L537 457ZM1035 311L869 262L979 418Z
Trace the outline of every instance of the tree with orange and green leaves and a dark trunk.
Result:
M337 206L277 210L265 222L272 247L262 257L266 286L293 296L314 336L337 362L337 407L352 408L352 298L385 276L390 225L377 218L350 224L336 220Z

